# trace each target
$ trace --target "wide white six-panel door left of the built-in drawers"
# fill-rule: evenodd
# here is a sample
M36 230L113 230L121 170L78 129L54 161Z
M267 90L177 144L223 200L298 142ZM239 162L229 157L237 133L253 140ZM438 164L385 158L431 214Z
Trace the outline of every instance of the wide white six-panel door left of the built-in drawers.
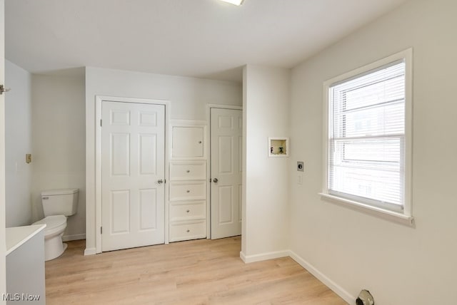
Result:
M165 242L165 106L101 105L101 250Z

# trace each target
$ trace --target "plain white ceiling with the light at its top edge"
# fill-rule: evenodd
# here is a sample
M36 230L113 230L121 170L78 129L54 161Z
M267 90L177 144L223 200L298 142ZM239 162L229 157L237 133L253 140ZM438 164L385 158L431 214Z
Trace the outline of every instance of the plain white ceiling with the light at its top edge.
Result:
M241 81L291 68L405 0L6 0L6 58L31 73L81 66Z

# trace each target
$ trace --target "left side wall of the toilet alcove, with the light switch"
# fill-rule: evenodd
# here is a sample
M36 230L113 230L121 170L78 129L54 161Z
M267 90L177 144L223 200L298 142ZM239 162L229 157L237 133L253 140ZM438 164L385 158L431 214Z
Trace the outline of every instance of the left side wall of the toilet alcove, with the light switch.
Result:
M6 227L31 223L31 175L33 163L26 163L31 147L31 74L5 61L5 170Z

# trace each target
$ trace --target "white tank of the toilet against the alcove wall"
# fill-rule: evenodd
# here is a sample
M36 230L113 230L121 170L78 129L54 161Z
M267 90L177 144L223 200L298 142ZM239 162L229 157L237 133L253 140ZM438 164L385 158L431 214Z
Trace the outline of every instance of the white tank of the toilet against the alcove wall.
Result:
M44 216L76 214L79 189L44 190L41 192Z

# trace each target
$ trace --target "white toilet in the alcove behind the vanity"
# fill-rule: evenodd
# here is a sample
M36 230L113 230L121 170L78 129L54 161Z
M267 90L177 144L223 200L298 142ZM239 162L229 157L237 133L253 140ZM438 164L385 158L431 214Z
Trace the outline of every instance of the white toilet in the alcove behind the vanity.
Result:
M78 189L44 190L41 192L44 219L34 224L46 224L44 229L44 259L49 261L61 256L67 244L62 242L66 217L76 214Z

